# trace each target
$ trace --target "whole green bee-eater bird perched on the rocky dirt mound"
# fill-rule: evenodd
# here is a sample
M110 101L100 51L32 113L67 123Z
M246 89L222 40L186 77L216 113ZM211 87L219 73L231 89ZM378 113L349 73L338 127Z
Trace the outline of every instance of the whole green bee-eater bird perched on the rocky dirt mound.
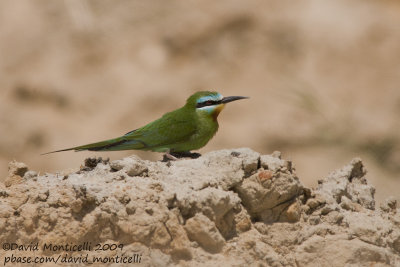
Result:
M197 158L200 154L191 151L204 147L217 133L219 127L217 117L225 105L247 98L249 97L223 97L215 91L199 91L187 98L183 107L120 137L42 155L69 150L147 150L165 153L164 159L166 157L170 160L181 157Z

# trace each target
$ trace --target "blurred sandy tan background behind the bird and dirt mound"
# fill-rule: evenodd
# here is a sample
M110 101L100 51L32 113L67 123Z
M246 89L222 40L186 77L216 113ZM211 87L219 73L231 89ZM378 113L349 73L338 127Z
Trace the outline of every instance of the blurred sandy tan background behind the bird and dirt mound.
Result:
M306 185L360 156L377 199L399 197L400 2L1 1L0 177L12 159L54 172L88 156L41 153L122 135L197 90L245 95L200 152L292 159Z

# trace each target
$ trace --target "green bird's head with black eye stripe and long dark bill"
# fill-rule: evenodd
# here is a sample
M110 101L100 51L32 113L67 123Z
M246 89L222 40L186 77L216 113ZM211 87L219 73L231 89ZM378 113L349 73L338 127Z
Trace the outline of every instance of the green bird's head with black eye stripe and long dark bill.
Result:
M217 119L219 113L224 109L225 104L239 99L246 99L245 96L223 97L218 92L201 91L191 95L186 105L194 108L196 112L207 114Z

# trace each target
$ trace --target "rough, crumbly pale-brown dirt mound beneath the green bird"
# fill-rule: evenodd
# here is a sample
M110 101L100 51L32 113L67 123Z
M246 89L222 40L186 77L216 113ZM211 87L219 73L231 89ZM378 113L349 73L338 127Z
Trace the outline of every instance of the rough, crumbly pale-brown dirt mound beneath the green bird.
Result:
M393 199L375 208L365 174L354 159L308 189L279 152L245 148L169 162L89 159L62 175L12 162L0 184L0 261L399 266L400 210Z

